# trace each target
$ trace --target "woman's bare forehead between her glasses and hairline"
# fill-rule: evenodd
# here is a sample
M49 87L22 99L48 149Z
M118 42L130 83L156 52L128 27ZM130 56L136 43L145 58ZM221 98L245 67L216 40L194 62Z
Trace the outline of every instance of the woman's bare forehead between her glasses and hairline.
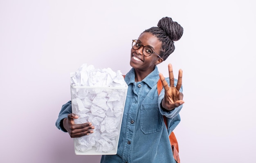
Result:
M152 48L154 48L153 50L160 50L162 46L162 42L159 41L156 36L149 32L141 33L138 40L144 46L151 46Z

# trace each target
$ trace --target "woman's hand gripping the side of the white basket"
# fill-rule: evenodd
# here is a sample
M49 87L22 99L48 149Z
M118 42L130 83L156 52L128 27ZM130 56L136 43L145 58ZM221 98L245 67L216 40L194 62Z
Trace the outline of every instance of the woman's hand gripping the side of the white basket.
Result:
M88 122L83 124L75 124L74 118L76 119L79 117L72 113L69 114L67 118L63 119L63 127L70 134L70 137L82 137L90 133L93 133L92 129L94 129L94 126L92 126L92 123Z

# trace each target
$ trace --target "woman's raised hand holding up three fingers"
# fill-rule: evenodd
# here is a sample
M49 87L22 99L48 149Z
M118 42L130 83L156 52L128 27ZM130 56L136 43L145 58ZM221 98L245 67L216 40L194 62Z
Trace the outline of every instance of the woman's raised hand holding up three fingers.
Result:
M182 86L182 70L179 70L179 78L177 81L176 87L174 86L174 77L173 77L173 67L171 64L168 64L169 69L169 78L170 78L170 87L168 86L167 81L162 73L159 73L159 77L164 86L164 99L162 101L162 107L166 110L173 110L178 106L184 104L183 94L179 91Z

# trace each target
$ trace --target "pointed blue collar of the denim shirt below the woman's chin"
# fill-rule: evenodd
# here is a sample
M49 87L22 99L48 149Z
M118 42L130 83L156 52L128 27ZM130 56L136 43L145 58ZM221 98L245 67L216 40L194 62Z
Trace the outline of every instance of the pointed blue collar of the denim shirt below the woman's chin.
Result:
M157 66L155 66L155 69L148 74L142 81L146 83L150 88L153 88L155 84L157 84L157 81L159 80L159 71ZM135 71L134 68L131 68L130 71L126 74L125 81L127 85L135 82Z

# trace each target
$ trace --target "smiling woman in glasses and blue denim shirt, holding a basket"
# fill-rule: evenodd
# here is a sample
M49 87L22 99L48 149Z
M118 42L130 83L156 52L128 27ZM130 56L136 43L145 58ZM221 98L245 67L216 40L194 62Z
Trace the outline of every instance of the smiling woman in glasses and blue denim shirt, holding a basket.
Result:
M101 163L175 163L169 135L180 122L179 112L184 104L182 70L179 70L178 79L174 79L173 68L169 64L169 77L165 78L159 73L157 65L173 53L174 41L180 39L183 28L168 17L159 20L157 26L141 33L137 40L132 40L132 68L125 76L128 91L117 154L103 155ZM164 89L158 95L159 79ZM167 117L167 128L163 115ZM94 124L89 121L74 124L77 118L69 101L63 105L56 126L72 138L92 136Z

